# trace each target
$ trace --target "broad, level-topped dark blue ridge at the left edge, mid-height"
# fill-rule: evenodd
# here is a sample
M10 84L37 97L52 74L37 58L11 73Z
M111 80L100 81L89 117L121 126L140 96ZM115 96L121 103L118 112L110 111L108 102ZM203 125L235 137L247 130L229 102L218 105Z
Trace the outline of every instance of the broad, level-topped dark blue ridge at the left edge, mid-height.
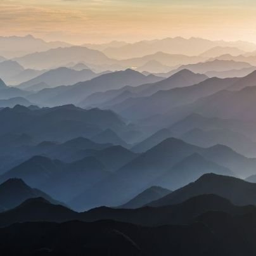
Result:
M73 105L30 110L20 106L0 111L0 135L7 132L26 133L38 141L67 141L68 139L92 137L105 129L120 132L124 121L109 110L83 110ZM22 113L20 113L22 112Z

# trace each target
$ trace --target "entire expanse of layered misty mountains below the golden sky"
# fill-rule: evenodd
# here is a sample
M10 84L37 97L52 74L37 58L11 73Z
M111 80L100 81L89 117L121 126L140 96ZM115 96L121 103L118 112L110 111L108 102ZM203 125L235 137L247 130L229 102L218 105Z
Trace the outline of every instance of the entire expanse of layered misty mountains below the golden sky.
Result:
M0 37L1 253L255 255L255 49Z

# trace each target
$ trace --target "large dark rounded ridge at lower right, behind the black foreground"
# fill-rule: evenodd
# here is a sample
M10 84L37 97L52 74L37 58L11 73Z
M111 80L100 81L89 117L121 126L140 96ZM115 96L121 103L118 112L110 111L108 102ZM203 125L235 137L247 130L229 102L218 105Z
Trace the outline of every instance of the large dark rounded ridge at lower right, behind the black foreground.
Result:
M193 196L215 194L227 198L235 205L255 204L256 184L235 177L204 174L195 182L177 189L159 200L149 203L150 206L160 207L184 202Z

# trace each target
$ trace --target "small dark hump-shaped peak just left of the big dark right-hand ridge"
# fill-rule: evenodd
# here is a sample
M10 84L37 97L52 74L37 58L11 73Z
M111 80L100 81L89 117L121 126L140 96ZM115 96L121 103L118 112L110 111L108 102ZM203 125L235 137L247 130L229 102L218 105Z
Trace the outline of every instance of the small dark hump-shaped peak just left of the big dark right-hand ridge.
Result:
M152 201L166 196L169 193L171 193L169 189L162 188L160 186L152 186L140 193L138 196L132 198L129 202L121 205L120 208L140 208Z

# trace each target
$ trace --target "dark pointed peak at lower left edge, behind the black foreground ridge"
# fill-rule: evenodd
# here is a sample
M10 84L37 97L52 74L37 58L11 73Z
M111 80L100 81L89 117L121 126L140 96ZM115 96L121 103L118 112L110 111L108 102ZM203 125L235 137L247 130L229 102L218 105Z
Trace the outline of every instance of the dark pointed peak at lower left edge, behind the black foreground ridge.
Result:
M22 179L8 179L8 181L0 184L0 206L4 210L10 210L29 198L39 196L49 200L51 203L60 204L60 202L53 200L51 196L39 189L30 188Z

